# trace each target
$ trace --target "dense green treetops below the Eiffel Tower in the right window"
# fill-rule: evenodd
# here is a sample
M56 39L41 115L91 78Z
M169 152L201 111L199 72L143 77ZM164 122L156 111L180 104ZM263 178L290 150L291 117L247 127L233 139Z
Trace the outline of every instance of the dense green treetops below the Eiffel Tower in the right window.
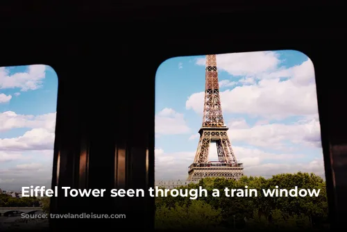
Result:
M257 197L226 197L225 188L257 190ZM262 189L319 190L319 197L264 197ZM278 174L271 179L244 176L239 181L203 179L178 189L208 190L208 197L156 197L155 228L199 231L328 231L325 181L315 174ZM219 189L220 197L212 197Z

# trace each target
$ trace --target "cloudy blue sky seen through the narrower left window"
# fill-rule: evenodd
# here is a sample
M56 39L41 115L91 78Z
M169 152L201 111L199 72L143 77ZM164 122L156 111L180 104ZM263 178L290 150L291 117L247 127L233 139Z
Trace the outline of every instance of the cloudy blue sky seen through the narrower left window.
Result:
M0 67L0 188L49 185L58 78L46 65Z

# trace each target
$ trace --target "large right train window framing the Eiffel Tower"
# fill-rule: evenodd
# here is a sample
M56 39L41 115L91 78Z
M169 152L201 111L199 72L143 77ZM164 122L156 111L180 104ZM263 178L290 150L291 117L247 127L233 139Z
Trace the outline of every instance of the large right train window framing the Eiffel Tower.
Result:
M158 193L157 229L328 226L310 58L291 50L177 57L155 78L155 185L209 191L194 200ZM262 192L276 188L278 196Z

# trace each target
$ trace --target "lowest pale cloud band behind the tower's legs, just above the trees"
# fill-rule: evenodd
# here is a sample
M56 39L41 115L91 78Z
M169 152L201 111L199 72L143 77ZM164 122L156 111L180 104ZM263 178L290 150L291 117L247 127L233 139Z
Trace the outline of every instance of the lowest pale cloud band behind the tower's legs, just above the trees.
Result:
M299 162L304 154L271 154L260 149L233 147L239 162L244 163L246 176L271 177L280 173L313 172L324 175L323 160ZM165 153L155 149L155 179L156 180L185 180L188 177L188 167L194 161L195 152ZM217 160L217 148L211 144L209 160ZM277 160L277 163L275 161Z

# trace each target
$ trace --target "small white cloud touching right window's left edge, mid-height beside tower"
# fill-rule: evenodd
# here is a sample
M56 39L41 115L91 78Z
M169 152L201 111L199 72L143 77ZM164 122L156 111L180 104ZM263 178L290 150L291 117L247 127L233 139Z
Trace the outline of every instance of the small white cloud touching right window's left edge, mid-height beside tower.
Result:
M183 114L171 108L164 108L155 115L155 133L158 135L174 135L189 133Z

